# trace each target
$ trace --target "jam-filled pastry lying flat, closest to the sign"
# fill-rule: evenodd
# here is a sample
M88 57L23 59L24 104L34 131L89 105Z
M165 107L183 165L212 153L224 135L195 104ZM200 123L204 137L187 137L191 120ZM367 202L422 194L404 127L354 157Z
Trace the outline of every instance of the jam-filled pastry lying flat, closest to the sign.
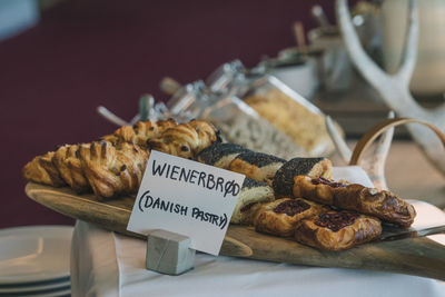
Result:
M323 210L326 208L303 198L281 198L263 205L255 216L254 226L259 232L290 237L299 220Z

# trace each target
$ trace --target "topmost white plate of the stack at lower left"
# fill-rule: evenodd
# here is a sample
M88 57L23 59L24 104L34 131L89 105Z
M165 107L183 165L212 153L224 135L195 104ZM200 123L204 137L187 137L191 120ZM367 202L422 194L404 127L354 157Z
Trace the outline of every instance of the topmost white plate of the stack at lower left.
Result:
M71 226L0 230L0 285L68 277L72 230Z

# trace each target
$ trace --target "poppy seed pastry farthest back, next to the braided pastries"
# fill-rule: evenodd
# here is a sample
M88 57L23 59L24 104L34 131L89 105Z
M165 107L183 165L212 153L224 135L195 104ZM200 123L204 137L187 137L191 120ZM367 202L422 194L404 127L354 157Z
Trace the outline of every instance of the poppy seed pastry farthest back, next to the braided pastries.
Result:
M250 150L239 145L215 142L199 152L197 160L198 162L227 169L238 155L248 151Z

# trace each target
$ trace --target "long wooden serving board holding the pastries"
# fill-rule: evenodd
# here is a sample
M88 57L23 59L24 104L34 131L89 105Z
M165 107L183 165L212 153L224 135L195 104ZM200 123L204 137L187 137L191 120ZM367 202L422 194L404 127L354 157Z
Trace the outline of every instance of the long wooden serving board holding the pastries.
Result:
M141 237L127 231L132 197L101 202L92 195L77 196L69 188L52 188L33 182L26 186L26 192L34 201L66 216L108 230ZM426 237L372 242L344 251L322 251L293 240L258 234L251 227L231 225L220 255L309 266L392 271L445 280L445 247Z

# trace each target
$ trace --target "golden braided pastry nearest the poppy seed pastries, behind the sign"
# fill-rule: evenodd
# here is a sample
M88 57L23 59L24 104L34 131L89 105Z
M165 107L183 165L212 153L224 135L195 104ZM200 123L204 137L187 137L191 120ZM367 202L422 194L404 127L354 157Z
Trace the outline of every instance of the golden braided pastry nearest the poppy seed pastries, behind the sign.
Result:
M150 149L194 159L212 142L220 142L217 129L204 120L191 120L165 130L159 138L148 140Z

